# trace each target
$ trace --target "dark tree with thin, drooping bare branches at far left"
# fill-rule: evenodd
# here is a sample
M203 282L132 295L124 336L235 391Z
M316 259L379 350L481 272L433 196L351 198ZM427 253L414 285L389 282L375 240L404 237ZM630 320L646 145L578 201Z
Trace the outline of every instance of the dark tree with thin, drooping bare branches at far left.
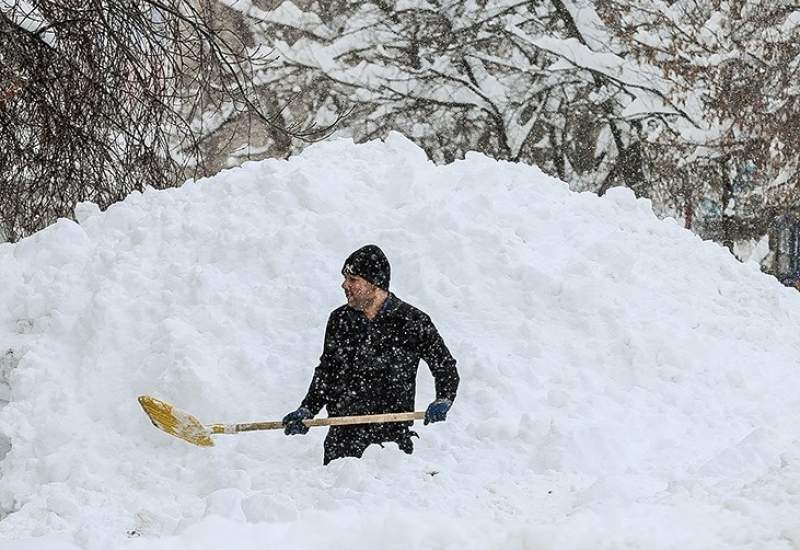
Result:
M145 186L203 174L204 129L246 109L299 137L255 87L268 59L213 4L0 4L0 228L15 240ZM263 92L263 89L261 90ZM324 130L323 130L324 131Z

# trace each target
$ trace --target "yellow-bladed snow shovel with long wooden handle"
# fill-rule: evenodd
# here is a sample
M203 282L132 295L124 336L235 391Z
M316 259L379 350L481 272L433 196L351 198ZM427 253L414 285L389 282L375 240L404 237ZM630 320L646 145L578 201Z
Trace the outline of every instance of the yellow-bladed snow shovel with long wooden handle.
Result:
M176 409L149 395L140 395L139 404L150 417L153 425L170 435L179 437L193 445L200 447L213 447L211 436L216 434L236 434L239 432L253 432L256 430L282 430L283 423L274 422L248 422L246 424L202 424L189 413ZM315 426L342 426L345 424L374 424L377 422L410 422L422 420L425 413L416 411L408 413L367 414L362 416L335 416L332 418L314 418L303 420L303 424L313 428Z

